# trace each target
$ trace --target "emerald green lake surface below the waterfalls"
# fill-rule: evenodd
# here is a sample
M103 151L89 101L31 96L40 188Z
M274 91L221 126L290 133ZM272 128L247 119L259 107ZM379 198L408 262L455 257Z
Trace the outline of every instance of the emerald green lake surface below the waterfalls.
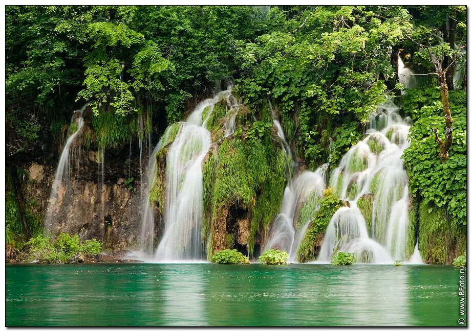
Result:
M7 264L6 325L460 326L459 277L428 265Z

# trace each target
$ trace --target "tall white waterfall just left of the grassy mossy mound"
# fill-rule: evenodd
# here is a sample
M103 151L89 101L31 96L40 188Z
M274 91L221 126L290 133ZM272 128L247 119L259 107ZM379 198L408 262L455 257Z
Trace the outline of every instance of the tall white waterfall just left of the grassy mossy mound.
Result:
M164 232L156 249L154 260L157 262L202 260L204 259L201 224L203 219L203 175L202 162L210 149L210 132L206 125L213 106L226 99L234 111L235 102L231 90L225 90L212 99L200 103L189 115L186 122L178 124L179 129L173 142L168 147L165 174ZM208 108L208 111L206 109ZM229 113L228 111L228 113ZM228 114L228 126L225 133L234 132L231 125L233 113ZM235 118L235 114L234 114ZM147 191L150 192L155 175L156 154L169 144L171 127L163 137L149 159L147 170ZM141 230L141 249L152 253L154 250L154 214L148 199L144 203L144 215Z

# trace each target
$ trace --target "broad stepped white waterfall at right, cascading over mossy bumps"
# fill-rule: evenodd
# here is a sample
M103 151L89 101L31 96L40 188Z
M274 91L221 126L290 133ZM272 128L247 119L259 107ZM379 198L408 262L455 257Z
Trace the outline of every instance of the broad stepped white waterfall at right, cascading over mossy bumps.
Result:
M398 107L389 100L369 121L364 139L351 147L331 174L330 187L349 200L349 206L341 207L331 218L319 262L328 263L336 251L354 253L360 263L392 263L394 259L409 258L406 240L410 196L401 159L409 146L408 120L401 118ZM371 215L362 215L360 199L372 201ZM370 220L370 231L366 218Z

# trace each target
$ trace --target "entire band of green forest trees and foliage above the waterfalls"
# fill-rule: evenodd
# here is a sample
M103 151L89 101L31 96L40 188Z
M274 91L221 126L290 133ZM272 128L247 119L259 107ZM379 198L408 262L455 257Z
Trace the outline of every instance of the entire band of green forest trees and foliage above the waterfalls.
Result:
M464 6L7 6L7 201L23 215L13 208L7 226L20 237L40 227L21 206L21 168L57 161L72 110L90 102L88 146L120 151L140 134L139 117L159 137L232 84L254 119L240 133L251 149L267 139L272 120L261 110L270 102L309 170L334 168L369 115L396 97L413 121L403 157L412 193L462 227L466 46ZM419 75L416 87L401 84L399 57ZM247 147L222 149L244 162L235 151ZM278 181L264 172L254 193Z

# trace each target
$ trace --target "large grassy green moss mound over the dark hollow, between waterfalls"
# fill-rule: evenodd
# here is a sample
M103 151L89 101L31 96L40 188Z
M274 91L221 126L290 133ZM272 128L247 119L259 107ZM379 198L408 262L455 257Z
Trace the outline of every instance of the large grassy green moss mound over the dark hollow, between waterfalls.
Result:
M252 254L258 230L276 216L285 187L285 155L272 137L223 140L203 163L204 235L218 210L237 206L252 215L248 251ZM211 236L210 236L211 238Z

